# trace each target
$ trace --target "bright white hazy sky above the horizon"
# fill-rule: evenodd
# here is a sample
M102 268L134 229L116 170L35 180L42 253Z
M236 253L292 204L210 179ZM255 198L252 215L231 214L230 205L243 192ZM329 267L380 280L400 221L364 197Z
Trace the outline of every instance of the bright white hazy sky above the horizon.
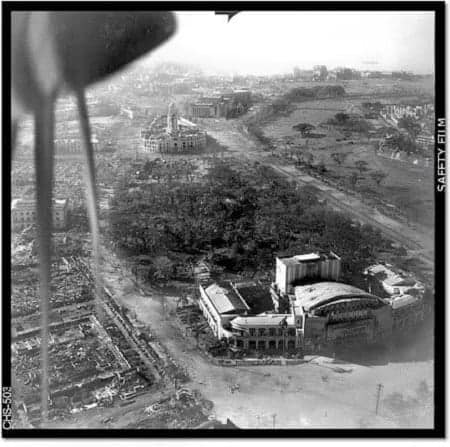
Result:
M254 11L228 23L213 12L176 15L177 33L151 54L152 63L188 63L226 74L271 75L316 64L434 72L433 12Z

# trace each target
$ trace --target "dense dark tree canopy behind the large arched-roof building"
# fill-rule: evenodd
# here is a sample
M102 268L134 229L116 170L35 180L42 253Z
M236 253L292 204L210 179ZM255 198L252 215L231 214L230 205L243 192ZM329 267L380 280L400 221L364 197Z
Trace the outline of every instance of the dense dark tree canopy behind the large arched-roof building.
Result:
M111 203L112 238L130 255L206 254L230 271L272 269L280 252L331 249L348 272L359 273L388 246L378 231L326 208L314 191L296 188L270 167L244 175L216 160L203 180L130 188L126 176Z

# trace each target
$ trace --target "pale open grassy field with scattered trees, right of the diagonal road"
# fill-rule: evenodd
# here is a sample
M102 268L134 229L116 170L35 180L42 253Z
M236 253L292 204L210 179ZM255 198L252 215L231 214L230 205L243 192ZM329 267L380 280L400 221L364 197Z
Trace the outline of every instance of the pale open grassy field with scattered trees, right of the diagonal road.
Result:
M296 110L289 116L282 116L263 127L264 134L275 141L276 153L282 153L286 141L291 143L295 153L300 156L311 154L314 164L323 163L323 176L337 183L345 184L352 173L357 173L361 180L357 182L355 192L363 196L373 196L397 208L411 223L427 228L434 226L434 187L433 166L414 165L399 160L379 156L375 152L378 140L353 133L344 140L344 135L337 128L317 127L339 111L349 113L352 107L359 107L361 100L317 100L296 105ZM372 120L371 120L372 121ZM315 133L322 138L303 138L292 126L309 123L316 126ZM346 153L342 164L336 163L331 154ZM433 157L433 154L430 154ZM367 163L367 171L359 173L357 163ZM370 177L375 171L386 174L385 179L377 185Z

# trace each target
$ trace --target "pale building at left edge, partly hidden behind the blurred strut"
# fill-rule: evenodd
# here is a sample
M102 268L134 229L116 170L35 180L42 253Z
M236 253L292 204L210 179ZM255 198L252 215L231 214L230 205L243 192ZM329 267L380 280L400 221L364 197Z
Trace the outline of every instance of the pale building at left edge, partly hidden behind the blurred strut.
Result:
M63 230L67 227L69 212L68 199L53 200L53 228ZM20 231L36 223L36 200L14 199L11 203L11 227Z

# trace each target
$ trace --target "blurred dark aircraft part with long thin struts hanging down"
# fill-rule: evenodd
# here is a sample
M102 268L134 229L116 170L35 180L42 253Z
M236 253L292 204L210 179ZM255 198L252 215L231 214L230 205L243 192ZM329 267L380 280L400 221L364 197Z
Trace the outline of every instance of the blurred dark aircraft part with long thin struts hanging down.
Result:
M170 12L105 13L49 12L49 16L33 12L12 15L12 90L15 114L12 122L11 151L14 151L18 115L31 112L35 123L36 208L39 250L39 298L41 312L41 426L48 418L49 402L49 313L51 280L52 183L54 166L54 108L57 91L67 87L75 93L84 140L86 201L92 234L93 265L97 312L99 295L99 230L97 194L95 190L94 152L84 88L118 71L136 58L166 41L176 29ZM34 21L32 20L34 18ZM46 20L49 20L46 24ZM111 26L113 25L113 26ZM44 26L44 28L39 28ZM31 45L32 27L37 35L48 39ZM46 27L46 28L45 28ZM46 32L42 32L45 31ZM80 32L80 30L83 30ZM114 32L109 33L108 30ZM120 32L117 32L117 31ZM40 33L40 34L39 34ZM50 47L45 47L50 45ZM54 48L55 46L55 48ZM43 49L43 58L40 49ZM106 51L105 51L106 49ZM45 51L46 50L46 51ZM36 54L38 52L39 54ZM50 67L47 65L50 63ZM62 68L62 73L59 73ZM54 77L46 85L48 70ZM58 73L56 73L58 72ZM59 76L59 77L58 77ZM43 91L47 87L46 92ZM49 93L51 92L51 93Z

